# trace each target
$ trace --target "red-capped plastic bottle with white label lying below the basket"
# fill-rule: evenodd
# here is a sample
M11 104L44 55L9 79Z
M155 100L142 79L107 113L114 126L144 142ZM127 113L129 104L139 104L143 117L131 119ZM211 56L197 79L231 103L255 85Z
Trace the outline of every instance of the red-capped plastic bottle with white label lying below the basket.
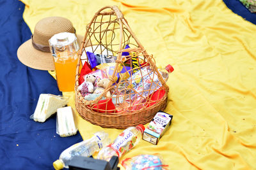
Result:
M122 157L124 153L129 152L140 142L144 130L145 127L141 124L136 127L128 127L118 135L113 143L100 150L97 159L109 161L113 156Z

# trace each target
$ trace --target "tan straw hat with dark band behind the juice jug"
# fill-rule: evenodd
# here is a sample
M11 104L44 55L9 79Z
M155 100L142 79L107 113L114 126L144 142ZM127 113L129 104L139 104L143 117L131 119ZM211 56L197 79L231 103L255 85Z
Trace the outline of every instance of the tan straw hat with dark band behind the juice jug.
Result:
M47 17L35 25L31 39L20 45L17 56L24 65L34 69L54 70L54 62L49 48L49 39L60 32L76 33L72 23L63 17ZM79 45L83 36L77 35Z

